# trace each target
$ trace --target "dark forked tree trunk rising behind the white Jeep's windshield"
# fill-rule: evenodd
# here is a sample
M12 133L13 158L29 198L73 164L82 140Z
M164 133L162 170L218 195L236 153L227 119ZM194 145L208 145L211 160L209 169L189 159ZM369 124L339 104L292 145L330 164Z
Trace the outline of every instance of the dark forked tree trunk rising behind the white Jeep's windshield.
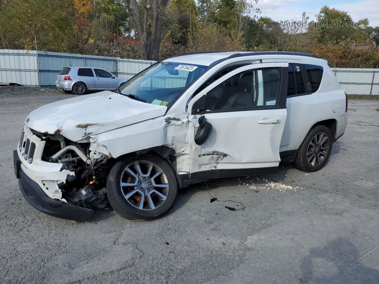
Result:
M168 0L147 0L146 5L140 7L137 0L124 0L130 16L133 18L139 37L139 48L142 59L157 60L162 39L162 21ZM143 8L143 14L142 10ZM152 9L153 19L151 23L150 44L148 39L149 12Z

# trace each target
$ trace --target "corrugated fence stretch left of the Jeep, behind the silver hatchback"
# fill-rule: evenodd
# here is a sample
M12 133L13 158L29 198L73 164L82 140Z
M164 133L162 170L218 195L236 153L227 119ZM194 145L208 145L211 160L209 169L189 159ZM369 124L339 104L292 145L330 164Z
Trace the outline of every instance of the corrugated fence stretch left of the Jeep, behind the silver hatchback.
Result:
M35 50L0 49L0 83L54 86L63 67L89 66L130 79L155 61Z

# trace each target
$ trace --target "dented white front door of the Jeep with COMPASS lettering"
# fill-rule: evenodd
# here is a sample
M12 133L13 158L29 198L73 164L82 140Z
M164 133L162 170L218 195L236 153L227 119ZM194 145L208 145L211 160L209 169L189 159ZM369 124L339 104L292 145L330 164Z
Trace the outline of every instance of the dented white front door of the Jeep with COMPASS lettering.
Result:
M197 94L188 105L190 178L276 172L287 117L287 81L288 63L251 64ZM201 116L211 132L197 145Z

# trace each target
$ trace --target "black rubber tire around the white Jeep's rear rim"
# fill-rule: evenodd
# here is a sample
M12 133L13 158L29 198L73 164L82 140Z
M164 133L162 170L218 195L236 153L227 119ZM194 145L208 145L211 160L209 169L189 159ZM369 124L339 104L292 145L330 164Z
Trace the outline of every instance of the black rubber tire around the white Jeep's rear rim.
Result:
M321 145L323 147L321 147L319 145L316 145L317 147L313 147L311 145L311 142L314 145L314 140L313 140L314 137L316 135L321 135L321 133L326 134L328 141L329 141L328 145L323 144L324 146ZM316 140L317 140L317 137L316 137ZM305 137L303 143L301 144L301 146L299 148L299 151L298 151L298 154L297 154L296 160L295 160L296 167L298 167L298 169L302 170L303 172L316 172L316 171L318 171L319 169L321 169L326 164L327 160L329 159L330 152L332 151L332 144L333 144L333 137L332 137L332 133L330 132L329 128L327 128L324 125L314 126L309 131L309 133L307 134L307 136ZM313 148L315 148L315 150L313 150L313 153L311 153ZM325 149L321 150L321 148L325 148ZM326 151L326 150L327 150L327 152L325 153L324 151ZM320 153L321 151L323 153ZM308 154L308 156L307 156L307 153L311 153L311 154ZM320 157L322 158L322 161L321 161L321 158L318 158L318 162L316 162L317 161L316 156L318 156L318 155L320 155ZM323 155L324 155L324 157L323 157ZM311 162L308 161L309 159ZM314 165L312 165L312 162L314 163Z

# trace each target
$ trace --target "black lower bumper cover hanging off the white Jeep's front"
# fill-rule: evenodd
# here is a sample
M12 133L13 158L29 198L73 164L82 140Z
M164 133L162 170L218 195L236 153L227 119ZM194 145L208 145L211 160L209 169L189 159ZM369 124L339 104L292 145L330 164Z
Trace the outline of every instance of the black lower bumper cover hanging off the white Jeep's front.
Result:
M58 199L52 199L46 195L41 187L29 178L20 167L21 161L17 150L13 151L14 172L19 179L19 187L23 197L34 208L48 215L74 220L87 221L91 218L93 210L65 203Z

